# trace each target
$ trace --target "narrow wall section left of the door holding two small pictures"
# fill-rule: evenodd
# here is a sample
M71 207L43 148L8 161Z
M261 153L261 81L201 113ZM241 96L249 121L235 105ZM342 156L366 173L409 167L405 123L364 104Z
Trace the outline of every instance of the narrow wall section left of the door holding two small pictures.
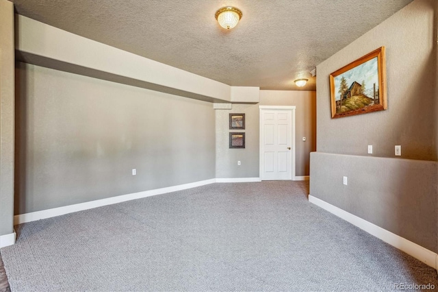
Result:
M245 130L229 130L230 113L245 114ZM215 114L216 178L259 178L259 105L233 104ZM229 132L245 132L245 149L229 149Z

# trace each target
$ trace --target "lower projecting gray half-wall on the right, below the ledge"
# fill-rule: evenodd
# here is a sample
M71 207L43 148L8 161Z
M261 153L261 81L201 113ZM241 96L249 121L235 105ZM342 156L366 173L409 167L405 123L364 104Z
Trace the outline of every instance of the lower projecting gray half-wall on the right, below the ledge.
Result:
M436 162L313 152L311 163L311 195L438 251Z

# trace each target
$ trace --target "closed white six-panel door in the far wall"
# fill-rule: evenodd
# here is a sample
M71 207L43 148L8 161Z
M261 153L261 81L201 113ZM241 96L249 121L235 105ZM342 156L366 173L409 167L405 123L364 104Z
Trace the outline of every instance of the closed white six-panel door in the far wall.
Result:
M292 180L292 108L260 106L261 180Z

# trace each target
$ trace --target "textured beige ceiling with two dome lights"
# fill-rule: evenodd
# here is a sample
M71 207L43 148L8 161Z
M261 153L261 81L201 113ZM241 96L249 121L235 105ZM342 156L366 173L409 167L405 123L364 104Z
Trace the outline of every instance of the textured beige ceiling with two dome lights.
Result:
M309 71L412 0L12 0L16 12L232 86L315 90ZM214 13L242 10L222 29ZM385 45L385 44L382 44ZM298 88L294 80L310 79Z

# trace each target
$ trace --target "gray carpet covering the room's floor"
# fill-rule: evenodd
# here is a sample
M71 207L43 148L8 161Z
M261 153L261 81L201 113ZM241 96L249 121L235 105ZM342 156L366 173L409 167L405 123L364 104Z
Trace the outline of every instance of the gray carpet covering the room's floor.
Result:
M438 287L434 269L309 203L308 188L210 184L24 223L1 256L12 291Z

